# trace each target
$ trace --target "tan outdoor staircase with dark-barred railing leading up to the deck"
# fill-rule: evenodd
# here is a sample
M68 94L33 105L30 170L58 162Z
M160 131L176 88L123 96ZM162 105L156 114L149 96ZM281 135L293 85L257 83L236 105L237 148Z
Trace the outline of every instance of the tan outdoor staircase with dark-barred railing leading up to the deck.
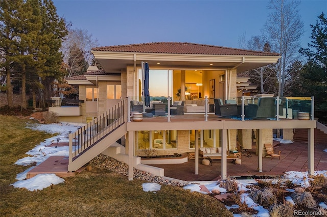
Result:
M68 171L77 171L127 133L128 100L69 134Z

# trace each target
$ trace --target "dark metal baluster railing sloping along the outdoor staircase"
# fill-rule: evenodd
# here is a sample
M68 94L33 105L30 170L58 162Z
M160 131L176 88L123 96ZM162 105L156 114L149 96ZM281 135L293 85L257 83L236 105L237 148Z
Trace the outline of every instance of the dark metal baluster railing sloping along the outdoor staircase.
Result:
M127 121L127 103L127 99L121 100L99 117L69 134L69 162Z

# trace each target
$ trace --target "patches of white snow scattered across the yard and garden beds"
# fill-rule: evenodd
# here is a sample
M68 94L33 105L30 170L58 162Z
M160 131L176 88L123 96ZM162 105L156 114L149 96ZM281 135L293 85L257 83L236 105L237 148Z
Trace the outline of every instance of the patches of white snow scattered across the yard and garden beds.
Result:
M28 166L36 162L36 165L39 165L41 162L43 162L45 159L47 159L50 156L68 156L68 146L65 147L47 147L51 145L52 143L56 143L57 139L60 139L60 142L69 142L68 134L69 131L76 131L80 126L73 125L69 123L59 123L59 124L36 124L28 126L29 128L33 130L41 130L49 133L57 133L55 137L46 139L44 142L41 142L40 144L37 144L35 148L28 151L27 154L30 156L24 157L22 159L19 159L15 162L17 165L24 165ZM327 151L327 150L324 150ZM16 179L17 182L13 183L12 185L14 187L20 187L20 188L27 188L29 191L36 191L41 190L43 188L51 186L51 184L59 184L64 182L64 179L56 176L55 174L39 174L33 178L26 179L26 174L29 170L31 170L33 167L27 169L26 171L20 173L17 175ZM323 174L327 177L327 171L316 171L315 175ZM308 187L309 184L309 176L306 172L296 172L296 171L290 171L286 172L285 179L291 180L294 184L301 185L303 187ZM239 189L242 191L247 191L249 189L247 186L254 184L256 181L253 179L247 179L247 180L237 180ZM145 192L157 192L160 191L161 185L157 183L143 183L143 190ZM205 188L205 191L203 191L203 188ZM183 187L184 189L189 189L191 192L200 192L202 194L208 194L211 193L214 189L218 189L222 194L226 193L226 189L219 187L217 185L217 181L202 181L202 182L196 182L191 183L189 185L186 185ZM201 191L202 189L202 191ZM290 189L292 191L292 189ZM261 205L256 204L253 202L252 199L250 199L247 196L247 193L243 193L242 196L242 202L245 202L249 207L253 207L255 210L258 210L258 216L269 216L269 212L267 209L263 208ZM290 203L294 203L292 199L286 198ZM322 208L327 208L327 205L325 203L320 203L319 206ZM237 208L237 205L233 206L226 206L228 209L230 208ZM241 216L238 214L235 214L234 216Z

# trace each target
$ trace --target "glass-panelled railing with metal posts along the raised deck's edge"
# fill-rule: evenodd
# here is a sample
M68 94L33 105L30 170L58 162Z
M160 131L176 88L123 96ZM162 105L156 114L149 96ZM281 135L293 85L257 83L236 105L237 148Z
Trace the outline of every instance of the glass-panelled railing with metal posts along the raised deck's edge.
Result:
M137 99L137 97L134 97ZM171 117L175 115L192 115L192 114L204 114L204 121L208 119L209 111L209 99L205 99L205 112L196 112L196 113L181 113L181 114L171 114L171 97L168 97L165 100L162 100L162 104L166 104L166 112L160 111L159 116L166 116L167 121L170 122ZM212 99L210 99L213 101ZM138 102L138 100L136 100ZM157 103L157 102L153 102ZM213 102L211 102L213 104ZM303 113L309 115L310 120L314 120L314 97L271 97L271 96L242 96L234 97L225 100L224 103L232 104L237 110L237 114L233 113L231 115L225 115L224 118L231 118L235 120L247 121L247 120L275 120L280 119L298 119L298 116ZM153 105L153 104L152 104ZM129 101L129 108L131 111L152 113L157 115L153 107L144 107L143 102L139 101L139 104L131 104ZM277 106L278 105L278 106ZM178 109L177 105L177 109ZM211 114L215 111L211 111ZM158 112L159 113L159 112ZM162 119L161 119L162 120ZM130 116L129 116L130 121Z

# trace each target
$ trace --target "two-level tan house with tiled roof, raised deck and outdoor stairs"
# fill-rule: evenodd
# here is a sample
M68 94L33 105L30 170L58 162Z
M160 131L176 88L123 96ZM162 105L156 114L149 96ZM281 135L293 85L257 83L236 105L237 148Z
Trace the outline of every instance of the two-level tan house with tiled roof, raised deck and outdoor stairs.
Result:
M276 63L280 58L278 53L176 42L96 47L91 52L103 69L90 68L84 75L67 79L69 84L79 86L79 99L83 101L75 106L75 110L60 104L60 100L59 103L54 101L54 106L49 108L49 111L58 113L61 121L87 123L70 134L69 171L78 170L104 153L129 165L129 179L133 178L133 167L164 175L161 170L140 164L141 159L137 157L155 149L157 155L194 152L197 174L200 147L221 147L222 153L227 153L236 147L237 141L244 148L251 148L254 137L258 168L262 171L264 144L272 143L273 129L284 129L285 138L292 134L293 128L306 128L310 135L308 169L313 173L316 121L313 118L298 120L298 108L296 113L294 110L289 114L289 106L285 105L287 98L275 97L272 102L275 106L267 108L260 105L267 96L242 96L242 90L249 84L247 79L237 78L237 74ZM150 115L142 122L135 122L130 118L131 101L142 104L142 62L148 63L150 78L154 78L150 81L152 91L160 91L167 97L163 107L152 103L152 109L156 111L156 107L160 107L158 111L163 109L165 116ZM237 104L232 106L237 109L239 118L215 116L214 99L235 100ZM190 113L171 116L170 107L174 102L177 106L184 106L178 103L196 104L199 100L204 101L201 105L205 106L200 113L191 110ZM312 108L311 98L303 101ZM268 109L270 113L273 109L272 118L246 119L247 112L260 110L260 114L265 116ZM313 116L313 113L308 115ZM123 146L113 145L118 140L123 141ZM221 167L221 175L226 178L225 154L222 154Z

